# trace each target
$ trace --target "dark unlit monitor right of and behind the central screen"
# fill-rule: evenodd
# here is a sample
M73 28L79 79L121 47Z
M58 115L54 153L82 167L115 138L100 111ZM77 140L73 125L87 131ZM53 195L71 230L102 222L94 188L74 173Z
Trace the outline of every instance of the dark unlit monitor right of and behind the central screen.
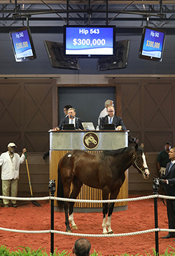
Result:
M130 39L117 41L115 57L102 58L97 62L97 71L123 69L127 67L130 51Z

